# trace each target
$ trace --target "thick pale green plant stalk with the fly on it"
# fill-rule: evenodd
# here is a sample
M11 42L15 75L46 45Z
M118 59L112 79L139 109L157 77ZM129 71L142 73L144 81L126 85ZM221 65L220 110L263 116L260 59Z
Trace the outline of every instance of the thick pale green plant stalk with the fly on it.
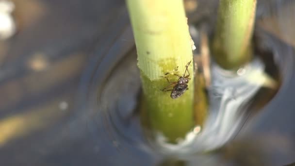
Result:
M193 63L189 89L179 98L161 89L183 75L193 62L192 43L182 0L126 0L135 38L138 67L150 128L170 143L184 137L194 126ZM178 67L178 68L177 68ZM188 73L186 73L188 74Z

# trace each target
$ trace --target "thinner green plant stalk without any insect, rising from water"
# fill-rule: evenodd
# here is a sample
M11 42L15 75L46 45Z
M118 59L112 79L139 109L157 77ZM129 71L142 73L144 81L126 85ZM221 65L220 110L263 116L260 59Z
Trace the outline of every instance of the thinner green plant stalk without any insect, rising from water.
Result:
M237 69L252 57L250 40L256 0L220 0L212 51L225 69Z

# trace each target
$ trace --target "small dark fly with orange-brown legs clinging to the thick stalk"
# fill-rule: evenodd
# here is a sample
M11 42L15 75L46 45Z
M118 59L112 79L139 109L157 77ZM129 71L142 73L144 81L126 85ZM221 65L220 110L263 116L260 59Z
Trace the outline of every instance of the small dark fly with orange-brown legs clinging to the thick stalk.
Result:
M171 91L171 95L170 97L172 99L177 99L179 98L181 95L183 95L183 93L188 90L188 81L191 80L190 77L190 72L188 71L188 66L191 64L192 61L190 61L189 63L187 63L187 65L185 66L185 71L183 76L177 75L175 73L173 73L173 75L178 76L178 81L177 82L170 82L168 80L168 78L165 76L164 78L166 78L167 82L170 84L168 86L166 86L164 89L162 89L162 91L167 92L167 91ZM185 75L186 72L188 72L188 75ZM165 75L170 74L170 73L166 73ZM169 89L173 87L173 89Z

